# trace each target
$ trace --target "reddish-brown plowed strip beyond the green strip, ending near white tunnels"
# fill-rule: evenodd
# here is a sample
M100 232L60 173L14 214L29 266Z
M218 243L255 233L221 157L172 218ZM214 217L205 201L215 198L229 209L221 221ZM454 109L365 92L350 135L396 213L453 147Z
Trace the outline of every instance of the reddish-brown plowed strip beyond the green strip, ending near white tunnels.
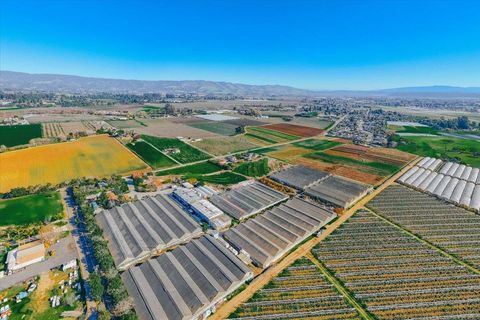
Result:
M396 149L369 148L352 144L341 145L330 150L334 153L338 152L337 155L352 159L378 161L398 166L402 166L415 158L415 155Z

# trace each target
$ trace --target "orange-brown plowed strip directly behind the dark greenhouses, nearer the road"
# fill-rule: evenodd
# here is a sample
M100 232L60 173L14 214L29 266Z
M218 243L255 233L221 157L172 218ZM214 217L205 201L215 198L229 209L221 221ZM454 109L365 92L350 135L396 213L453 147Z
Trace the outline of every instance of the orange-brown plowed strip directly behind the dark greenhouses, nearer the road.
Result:
M303 157L299 157L295 159L294 162L295 164L301 164L313 169L327 171L345 178L349 178L352 180L356 180L356 181L363 182L366 184L371 184L371 185L377 185L378 183L380 183L385 179L385 177L358 171L350 167L343 167L340 165L325 163L325 162L303 158Z

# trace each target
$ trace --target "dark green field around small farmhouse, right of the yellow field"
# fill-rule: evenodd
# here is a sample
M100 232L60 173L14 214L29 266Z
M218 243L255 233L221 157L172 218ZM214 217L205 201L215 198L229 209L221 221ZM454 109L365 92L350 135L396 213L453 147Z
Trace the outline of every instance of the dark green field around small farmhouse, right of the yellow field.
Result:
M147 135L142 135L142 139L152 144L158 150L164 151L166 149L178 149L179 153L171 153L170 157L180 163L190 163L200 160L209 159L210 156L202 151L195 149L188 144L173 138L157 138Z

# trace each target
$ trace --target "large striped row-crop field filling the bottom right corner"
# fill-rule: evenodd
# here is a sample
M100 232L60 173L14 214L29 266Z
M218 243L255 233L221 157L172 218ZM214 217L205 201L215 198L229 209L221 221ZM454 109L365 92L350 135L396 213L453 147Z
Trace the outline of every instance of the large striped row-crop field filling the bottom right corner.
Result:
M312 250L377 319L477 319L480 275L361 210Z

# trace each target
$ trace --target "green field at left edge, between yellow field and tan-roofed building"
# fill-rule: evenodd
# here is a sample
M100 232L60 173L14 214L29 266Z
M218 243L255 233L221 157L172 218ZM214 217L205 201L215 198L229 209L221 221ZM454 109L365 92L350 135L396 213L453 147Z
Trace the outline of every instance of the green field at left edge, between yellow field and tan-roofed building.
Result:
M0 200L0 226L53 221L62 216L63 205L58 192Z

